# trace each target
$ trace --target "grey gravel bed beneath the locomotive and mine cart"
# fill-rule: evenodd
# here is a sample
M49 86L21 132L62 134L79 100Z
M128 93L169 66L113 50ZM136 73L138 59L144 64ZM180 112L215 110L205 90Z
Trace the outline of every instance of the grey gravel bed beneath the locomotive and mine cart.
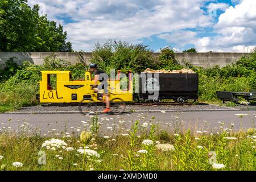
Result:
M97 110L103 110L104 106L97 106ZM223 107L216 105L127 105L126 111L150 111L150 110L192 110L192 111L201 111L201 110L230 110L231 107ZM234 109L235 110L235 109ZM31 107L22 107L15 112L56 112L56 111L79 111L79 106L73 105L49 105L49 106L31 106Z

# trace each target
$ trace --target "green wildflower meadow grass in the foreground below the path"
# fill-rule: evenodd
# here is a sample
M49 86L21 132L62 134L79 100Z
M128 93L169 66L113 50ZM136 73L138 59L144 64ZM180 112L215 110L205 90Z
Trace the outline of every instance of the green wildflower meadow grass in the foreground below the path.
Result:
M28 123L20 123L19 130L15 133L9 131L7 127L0 130L0 166L7 165L5 170L255 170L256 169L256 140L253 138L255 129L249 133L245 131L233 132L233 126L228 130L219 129L210 134L207 132L185 131L176 125L164 129L160 127L155 119L147 120L148 125L143 127L143 122L135 121L131 127L126 127L123 123L116 122L113 131L105 132L110 138L104 138L98 131L102 127L107 127L103 121L98 122L98 118L92 118L89 125L81 126L80 131L73 134L65 131L56 131L49 134L67 143L65 147L72 147L73 151L66 151L65 148L49 150L42 147L42 144L52 137L42 137L38 132L28 131ZM9 121L13 122L13 121ZM146 122L146 120L145 120ZM177 121L178 122L178 121ZM220 124L224 126L223 124ZM123 129L122 129L123 128ZM127 131L129 129L129 131ZM230 130L229 130L230 129ZM80 141L79 136L82 130L92 131L93 138L86 147L97 151L100 158L79 154L79 148L85 145ZM210 130L210 129L209 129ZM203 131L203 128L202 128ZM129 134L122 136L121 134ZM175 135L179 134L179 135ZM250 135L249 135L250 134ZM235 137L226 138L226 137ZM255 136L254 136L255 137ZM149 139L153 143L143 144L143 140ZM170 144L174 150L163 151L157 143ZM170 149L171 149L170 148ZM138 153L146 150L147 153ZM39 165L38 159L41 155L39 151L46 152L46 164ZM214 155L216 154L216 158ZM83 159L85 165L83 166ZM215 160L216 159L216 160ZM42 161L42 160L41 160ZM14 167L12 163L21 162L23 167ZM215 169L213 163L224 164L225 168ZM76 166L74 164L77 164Z

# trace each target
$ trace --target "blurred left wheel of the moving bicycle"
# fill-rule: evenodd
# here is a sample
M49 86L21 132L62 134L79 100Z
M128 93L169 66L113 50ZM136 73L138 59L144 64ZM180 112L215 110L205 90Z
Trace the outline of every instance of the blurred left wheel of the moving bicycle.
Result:
M79 103L79 111L81 114L86 115L94 115L97 114L97 104L93 102L93 100L89 100L89 102L84 102L85 100L82 100ZM88 101L88 100L86 100Z

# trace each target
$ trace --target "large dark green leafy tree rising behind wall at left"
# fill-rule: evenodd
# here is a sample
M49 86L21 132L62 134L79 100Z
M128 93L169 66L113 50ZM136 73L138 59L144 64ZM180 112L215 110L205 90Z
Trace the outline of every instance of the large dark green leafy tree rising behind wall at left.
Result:
M0 51L72 51L63 27L39 10L27 0L0 0Z

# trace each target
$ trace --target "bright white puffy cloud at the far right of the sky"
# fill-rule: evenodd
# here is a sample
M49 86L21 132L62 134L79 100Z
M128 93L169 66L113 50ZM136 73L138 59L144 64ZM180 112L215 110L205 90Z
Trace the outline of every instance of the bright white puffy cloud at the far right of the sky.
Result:
M213 26L217 36L201 38L196 48L200 52L247 52L256 45L256 1L243 0L230 6Z

